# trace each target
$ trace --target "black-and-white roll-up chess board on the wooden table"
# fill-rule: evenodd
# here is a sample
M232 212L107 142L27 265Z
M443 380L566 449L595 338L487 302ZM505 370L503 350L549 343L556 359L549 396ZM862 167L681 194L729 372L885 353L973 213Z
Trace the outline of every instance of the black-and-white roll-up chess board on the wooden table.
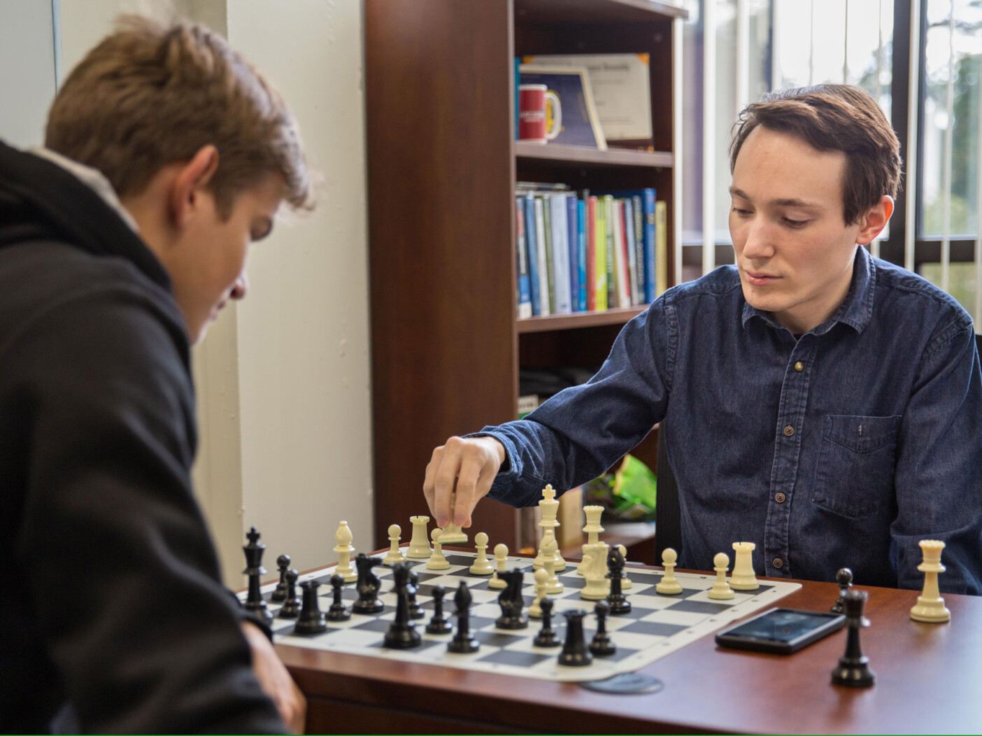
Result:
M404 548L405 552L405 548ZM535 677L545 680L581 682L602 680L621 672L632 672L640 667L677 651L690 642L710 634L724 625L755 613L771 605L779 598L791 594L801 586L796 583L765 581L756 591L740 593L735 591L731 600L713 600L707 596L714 576L677 573L682 584L682 594L661 595L655 592L655 585L662 579L662 571L626 568L632 587L627 589L627 599L631 611L624 616L610 616L607 631L617 647L612 656L594 657L593 663L585 667L569 667L558 663L560 647L540 649L532 646L532 640L541 627L539 619L529 619L528 628L505 631L495 627L495 619L501 615L498 605L500 590L488 586L490 576L471 575L467 568L476 556L472 552L446 552L450 568L447 570L427 570L426 561L420 560L413 566L419 575L419 590L416 600L427 611L426 618L415 621L416 630L422 635L421 645L412 650L389 650L382 646L383 637L390 622L396 617L396 594L393 593L392 570L383 565L374 568L382 582L379 598L385 609L377 615L352 614L349 621L327 622L326 632L313 636L294 634L293 619L274 618L273 639L277 644L291 647L306 647L326 651L342 651L364 656L377 656L386 659L439 664L445 667L497 672L499 674ZM383 557L384 553L377 554ZM411 562L411 560L410 560ZM589 643L596 631L596 616L593 606L596 601L580 598L579 592L585 585L584 579L576 574L575 562L568 562L567 568L558 573L563 583L561 594L550 595L555 603L553 628L560 640L566 634L566 618L563 611L584 609L589 616L583 620L586 641ZM507 569L520 568L524 572L522 595L525 600L525 613L534 599L534 578L532 560L527 557L509 557ZM330 578L333 569L328 568L301 575L299 583L316 579L321 583L318 589L320 609L326 612L332 600ZM434 586L447 589L444 598L444 612L451 615L455 627L457 617L454 593L464 581L473 602L470 610L470 631L480 643L478 651L469 654L456 654L447 651L447 643L452 634L436 636L425 633L426 623L432 615ZM274 616L280 608L279 603L269 602L269 595L276 588L275 583L263 586L269 610ZM300 588L298 587L298 594ZM245 600L246 593L240 594ZM344 588L346 604L357 599L355 583Z

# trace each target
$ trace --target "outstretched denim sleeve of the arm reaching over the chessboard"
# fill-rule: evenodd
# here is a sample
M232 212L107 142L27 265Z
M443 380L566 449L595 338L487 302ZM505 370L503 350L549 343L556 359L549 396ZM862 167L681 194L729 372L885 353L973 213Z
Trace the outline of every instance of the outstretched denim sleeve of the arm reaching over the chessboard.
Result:
M668 407L678 347L674 309L661 298L627 322L587 383L561 391L518 422L470 435L505 446L491 498L532 506L547 483L563 492L590 481L644 439ZM567 339L575 339L574 331Z

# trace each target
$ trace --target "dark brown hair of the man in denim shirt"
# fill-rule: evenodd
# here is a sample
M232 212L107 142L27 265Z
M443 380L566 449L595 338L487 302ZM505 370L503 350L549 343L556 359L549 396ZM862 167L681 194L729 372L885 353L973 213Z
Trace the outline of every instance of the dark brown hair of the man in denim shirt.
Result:
M884 195L900 189L900 142L880 105L852 85L815 85L765 94L739 114L730 143L730 173L736 155L761 126L807 142L817 150L846 153L843 216L851 225Z

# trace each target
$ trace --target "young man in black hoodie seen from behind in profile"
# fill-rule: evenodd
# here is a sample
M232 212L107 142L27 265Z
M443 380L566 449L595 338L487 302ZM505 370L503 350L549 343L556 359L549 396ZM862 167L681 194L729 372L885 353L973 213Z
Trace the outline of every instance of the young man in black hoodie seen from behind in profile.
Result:
M284 200L311 201L290 111L196 26L125 21L44 148L0 143L3 730L302 728L191 491L191 344Z

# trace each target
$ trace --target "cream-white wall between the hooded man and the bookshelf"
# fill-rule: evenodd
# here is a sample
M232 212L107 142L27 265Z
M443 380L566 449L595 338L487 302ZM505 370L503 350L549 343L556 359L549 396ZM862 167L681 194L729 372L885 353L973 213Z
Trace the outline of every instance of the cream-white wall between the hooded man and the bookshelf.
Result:
M248 298L194 350L194 482L230 586L242 585L252 525L270 570L282 552L300 569L332 561L342 519L364 549L372 481L361 4L60 0L60 12L66 75L119 13L177 13L226 35L297 116L324 178L319 206L254 247Z

